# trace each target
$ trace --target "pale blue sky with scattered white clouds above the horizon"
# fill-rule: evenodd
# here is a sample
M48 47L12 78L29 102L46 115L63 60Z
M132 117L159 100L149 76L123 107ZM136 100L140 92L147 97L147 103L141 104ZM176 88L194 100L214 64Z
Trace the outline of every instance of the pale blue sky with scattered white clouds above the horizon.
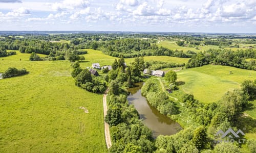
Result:
M256 33L256 0L0 0L0 31Z

